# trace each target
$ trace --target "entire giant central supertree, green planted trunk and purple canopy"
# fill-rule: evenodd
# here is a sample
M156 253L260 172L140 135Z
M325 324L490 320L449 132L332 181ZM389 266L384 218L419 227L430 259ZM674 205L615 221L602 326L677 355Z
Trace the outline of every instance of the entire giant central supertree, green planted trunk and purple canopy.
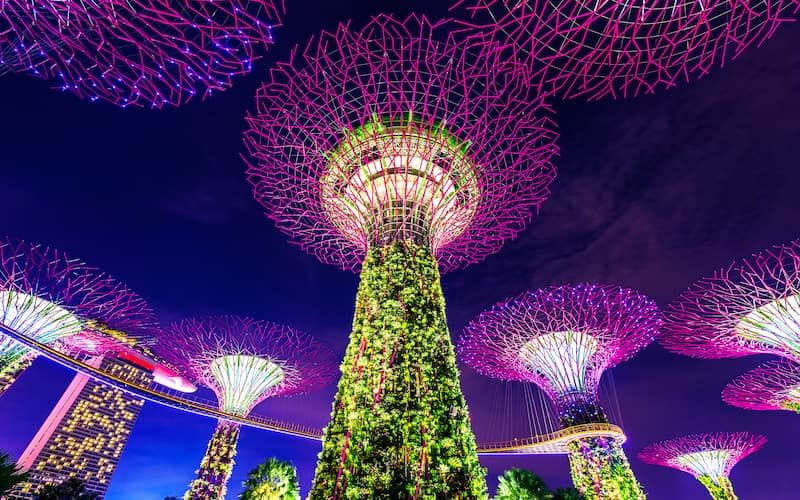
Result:
M274 68L248 117L268 217L361 269L311 498L486 496L439 274L523 229L556 134L524 66L449 25L341 24Z

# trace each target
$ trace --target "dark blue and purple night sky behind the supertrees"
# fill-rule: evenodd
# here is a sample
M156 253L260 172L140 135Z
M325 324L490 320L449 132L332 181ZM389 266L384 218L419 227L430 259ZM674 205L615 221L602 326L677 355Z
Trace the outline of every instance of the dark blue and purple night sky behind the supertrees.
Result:
M430 1L401 9L374 0L290 3L278 46L254 74L181 109L121 110L26 75L0 77L0 234L102 267L149 299L164 323L250 315L304 329L343 354L357 276L289 245L262 215L239 158L244 114L269 64L309 35L415 6L441 16L445 2L435 9ZM491 304L552 284L614 283L666 306L716 268L799 237L797 47L800 26L787 25L724 69L655 96L555 102L561 156L552 196L517 240L444 277L454 339ZM733 471L740 497L797 498L798 417L730 407L719 397L730 379L766 359L694 360L653 345L614 370L625 448L649 498L707 494L688 474L640 462L641 448L685 433L739 430L769 438ZM22 452L71 376L35 362L0 398L0 449ZM497 429L516 417L492 401L509 384L466 367L462 381L478 437L500 439ZM334 389L268 401L259 412L321 427ZM146 404L107 498L182 495L213 427L211 419ZM305 494L318 451L313 441L246 428L229 497L270 456L298 467ZM482 462L491 491L512 466L553 487L570 484L566 457Z

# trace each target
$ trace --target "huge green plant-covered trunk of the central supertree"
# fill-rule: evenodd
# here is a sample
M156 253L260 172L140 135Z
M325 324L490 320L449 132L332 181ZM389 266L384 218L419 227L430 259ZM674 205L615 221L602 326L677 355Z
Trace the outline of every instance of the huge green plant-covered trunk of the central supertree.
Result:
M309 498L487 498L424 246L367 253L341 371Z

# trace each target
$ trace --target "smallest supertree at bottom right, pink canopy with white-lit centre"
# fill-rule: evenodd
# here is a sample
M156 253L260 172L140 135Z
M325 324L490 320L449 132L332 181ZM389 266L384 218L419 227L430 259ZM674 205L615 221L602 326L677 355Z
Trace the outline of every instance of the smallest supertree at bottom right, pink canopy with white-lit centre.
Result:
M693 475L716 500L736 500L728 475L733 466L758 451L767 438L750 432L689 434L652 444L639 458Z

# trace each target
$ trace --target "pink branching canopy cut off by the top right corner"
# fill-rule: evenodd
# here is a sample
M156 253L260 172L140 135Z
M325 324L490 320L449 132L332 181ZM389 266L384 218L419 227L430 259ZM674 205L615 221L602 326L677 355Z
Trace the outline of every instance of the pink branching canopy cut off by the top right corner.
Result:
M793 21L797 0L457 0L561 96L599 99L708 74Z

